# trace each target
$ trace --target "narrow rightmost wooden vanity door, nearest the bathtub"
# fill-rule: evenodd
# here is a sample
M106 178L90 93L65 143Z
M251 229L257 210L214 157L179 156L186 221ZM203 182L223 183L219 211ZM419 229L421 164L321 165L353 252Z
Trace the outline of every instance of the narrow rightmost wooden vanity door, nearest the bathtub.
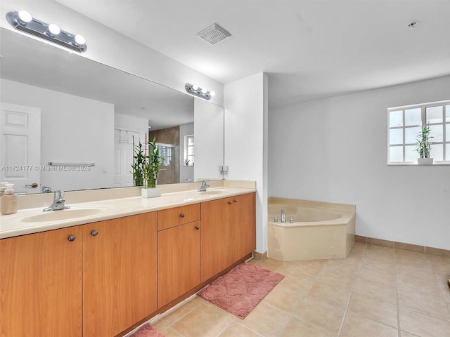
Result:
M255 193L233 197L233 262L256 249Z

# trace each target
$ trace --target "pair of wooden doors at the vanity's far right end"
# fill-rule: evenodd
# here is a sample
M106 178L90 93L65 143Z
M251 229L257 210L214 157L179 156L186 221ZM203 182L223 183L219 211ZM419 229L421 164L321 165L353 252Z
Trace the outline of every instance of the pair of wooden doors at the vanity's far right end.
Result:
M255 193L202 203L201 281L256 248Z

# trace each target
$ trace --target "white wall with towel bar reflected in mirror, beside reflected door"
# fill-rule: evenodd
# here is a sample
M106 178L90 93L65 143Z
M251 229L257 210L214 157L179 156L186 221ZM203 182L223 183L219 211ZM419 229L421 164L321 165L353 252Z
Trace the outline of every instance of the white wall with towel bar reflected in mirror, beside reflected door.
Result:
M41 171L41 185L53 190L114 185L114 105L5 79L0 84L2 102L41 108L41 165L95 163L90 171Z

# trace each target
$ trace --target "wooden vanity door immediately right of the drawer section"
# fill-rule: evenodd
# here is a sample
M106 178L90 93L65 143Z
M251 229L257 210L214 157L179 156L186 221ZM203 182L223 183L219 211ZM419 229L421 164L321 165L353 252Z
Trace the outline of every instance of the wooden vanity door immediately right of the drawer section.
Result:
M202 203L202 282L233 263L233 198Z

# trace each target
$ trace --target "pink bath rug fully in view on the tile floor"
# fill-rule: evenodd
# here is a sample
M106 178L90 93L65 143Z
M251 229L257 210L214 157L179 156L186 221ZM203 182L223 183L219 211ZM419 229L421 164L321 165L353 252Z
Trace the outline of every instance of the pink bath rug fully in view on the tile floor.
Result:
M198 296L244 319L283 278L278 272L244 262L199 291Z

